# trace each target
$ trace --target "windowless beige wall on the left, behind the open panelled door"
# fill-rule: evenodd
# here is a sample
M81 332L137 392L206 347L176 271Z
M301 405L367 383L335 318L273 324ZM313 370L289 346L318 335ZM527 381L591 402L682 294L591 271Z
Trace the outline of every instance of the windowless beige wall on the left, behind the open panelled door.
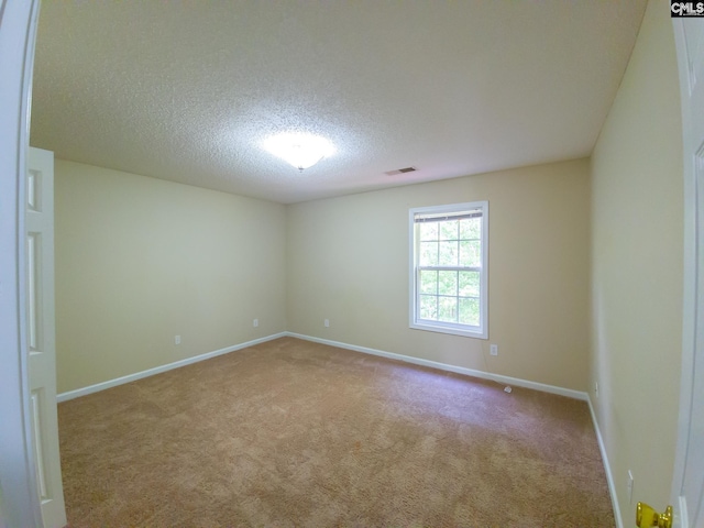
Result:
M55 209L59 393L286 330L284 206L57 160Z

